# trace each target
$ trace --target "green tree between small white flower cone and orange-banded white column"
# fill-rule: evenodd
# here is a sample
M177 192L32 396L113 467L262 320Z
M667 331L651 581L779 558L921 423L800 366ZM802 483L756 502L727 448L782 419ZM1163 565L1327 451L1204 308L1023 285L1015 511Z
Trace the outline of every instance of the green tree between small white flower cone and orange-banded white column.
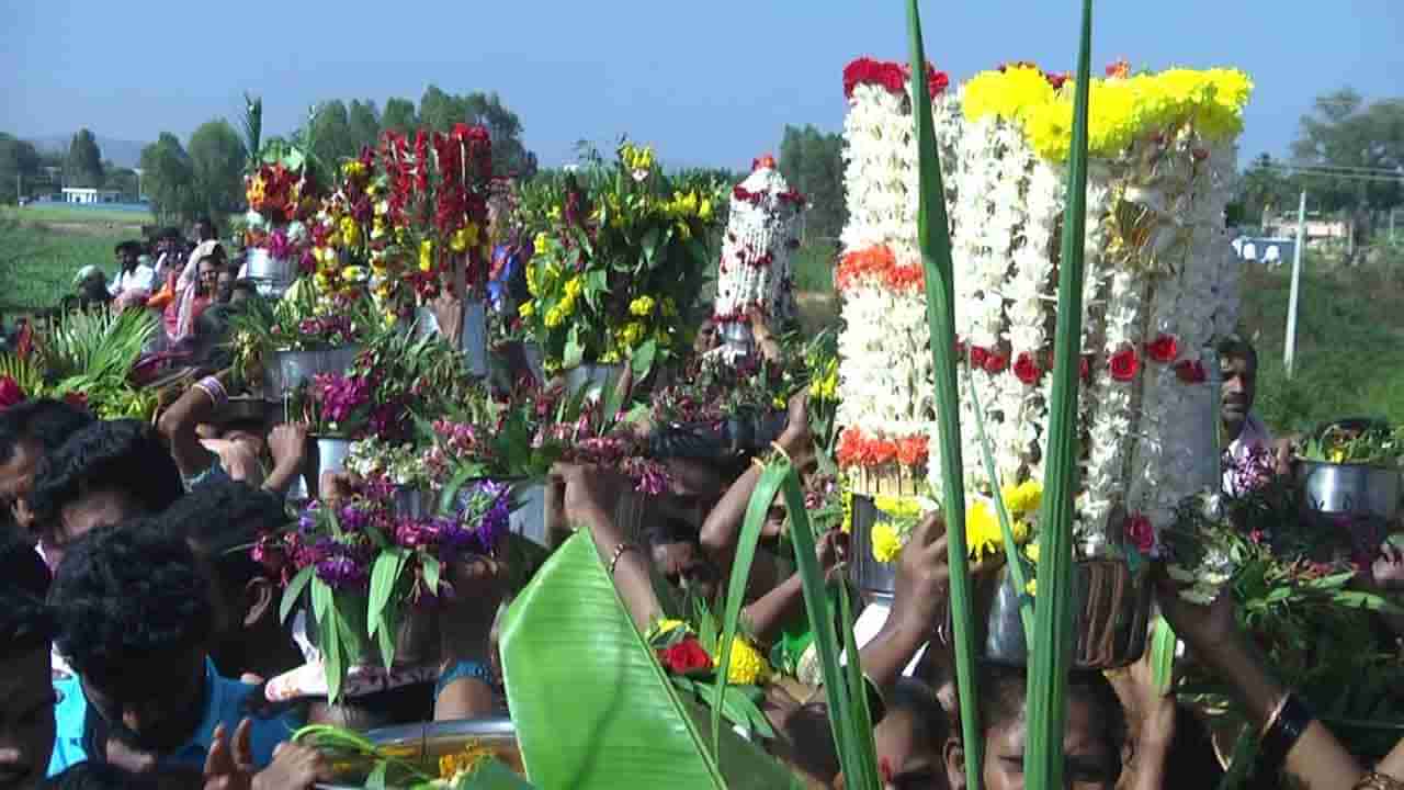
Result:
M837 242L848 219L844 204L844 138L813 125L785 127L781 174L809 200L804 236Z

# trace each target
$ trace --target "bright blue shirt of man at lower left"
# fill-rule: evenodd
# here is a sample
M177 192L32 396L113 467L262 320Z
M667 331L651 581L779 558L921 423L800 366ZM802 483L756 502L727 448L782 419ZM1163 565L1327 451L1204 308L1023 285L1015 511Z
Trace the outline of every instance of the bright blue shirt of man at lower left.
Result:
M244 718L253 720L250 741L254 763L258 768L272 762L274 748L292 737L296 723L291 717L258 718L244 710L244 699L257 689L249 683L220 678L213 662L205 659L205 714L185 745L161 758L161 765L177 768L204 768L209 752L215 725L223 723L227 738L234 737L234 728ZM88 715L87 699L77 678L55 680L53 690L59 704L53 708L58 727L53 732L53 756L49 758L49 776L63 773L69 766L87 762L84 744L84 723ZM95 711L94 711L94 715Z

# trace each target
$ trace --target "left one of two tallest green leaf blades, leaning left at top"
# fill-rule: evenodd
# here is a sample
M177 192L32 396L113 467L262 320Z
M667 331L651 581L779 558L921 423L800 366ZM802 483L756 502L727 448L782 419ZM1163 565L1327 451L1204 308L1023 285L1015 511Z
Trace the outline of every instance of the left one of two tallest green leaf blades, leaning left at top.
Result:
M920 166L917 245L925 271L927 322L935 373L936 437L941 457L941 493L945 500L946 540L951 547L951 617L955 628L956 687L960 690L960 731L966 748L966 787L980 790L984 742L980 732L976 687L974 617L970 602L970 564L965 531L965 474L960 458L960 410L956 387L955 268L951 263L951 224L946 219L941 153L931 119L927 89L927 55L921 42L917 0L907 0L911 32L911 112L915 117Z

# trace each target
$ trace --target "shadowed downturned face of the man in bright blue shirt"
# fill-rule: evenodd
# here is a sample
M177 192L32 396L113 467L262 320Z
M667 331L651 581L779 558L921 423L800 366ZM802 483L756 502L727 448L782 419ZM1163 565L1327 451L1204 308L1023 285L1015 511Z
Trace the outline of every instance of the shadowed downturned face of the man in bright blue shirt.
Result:
M107 724L110 741L136 758L168 755L197 735L204 717L205 654L143 655L138 665L138 672L102 679L80 672L83 694Z

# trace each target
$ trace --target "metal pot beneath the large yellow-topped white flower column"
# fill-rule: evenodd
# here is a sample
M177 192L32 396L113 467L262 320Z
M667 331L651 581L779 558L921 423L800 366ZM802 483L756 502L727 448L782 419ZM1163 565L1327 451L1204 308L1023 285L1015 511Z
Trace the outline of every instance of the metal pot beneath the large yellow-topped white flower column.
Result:
M856 520L856 519L855 519ZM974 585L976 645L981 658L1005 666L1026 666L1029 645L1024 638L1019 599L1008 566ZM1151 582L1148 571L1132 574L1120 559L1073 562L1073 606L1068 616L1077 642L1075 669L1116 669L1134 663L1146 652L1150 626ZM951 609L941 626L941 640L952 644Z

